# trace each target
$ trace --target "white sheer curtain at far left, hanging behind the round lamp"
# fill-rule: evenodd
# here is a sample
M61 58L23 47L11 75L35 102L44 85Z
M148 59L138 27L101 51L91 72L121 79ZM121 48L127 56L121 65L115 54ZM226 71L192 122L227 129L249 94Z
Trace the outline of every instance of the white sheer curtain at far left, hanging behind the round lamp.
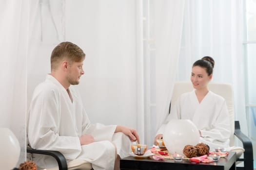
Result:
M18 138L20 164L26 160L26 60L30 0L1 0L0 3L0 127L10 128Z

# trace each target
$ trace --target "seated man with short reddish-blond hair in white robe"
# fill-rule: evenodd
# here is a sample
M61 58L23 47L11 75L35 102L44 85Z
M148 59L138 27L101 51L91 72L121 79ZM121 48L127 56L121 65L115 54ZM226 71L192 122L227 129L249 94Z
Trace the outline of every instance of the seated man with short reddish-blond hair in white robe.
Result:
M83 108L79 84L84 74L84 52L70 42L60 43L51 55L51 74L39 84L29 109L28 141L34 149L54 150L67 161L92 163L94 170L113 170L118 157L129 155L131 141L139 137L135 129L119 125L92 124ZM34 155L38 167L58 166L49 156Z

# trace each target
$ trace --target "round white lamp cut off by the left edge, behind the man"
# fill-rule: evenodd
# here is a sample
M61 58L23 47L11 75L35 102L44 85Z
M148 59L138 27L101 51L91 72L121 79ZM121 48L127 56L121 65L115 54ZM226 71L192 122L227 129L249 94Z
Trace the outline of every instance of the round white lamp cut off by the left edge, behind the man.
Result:
M12 170L20 157L20 143L8 128L0 128L0 168Z

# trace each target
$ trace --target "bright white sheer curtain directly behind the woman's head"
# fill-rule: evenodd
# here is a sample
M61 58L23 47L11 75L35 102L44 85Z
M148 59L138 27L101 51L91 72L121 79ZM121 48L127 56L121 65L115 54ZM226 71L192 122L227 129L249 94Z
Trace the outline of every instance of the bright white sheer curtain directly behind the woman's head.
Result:
M186 0L177 80L190 81L193 63L212 56L213 82L234 88L235 119L247 134L241 0Z

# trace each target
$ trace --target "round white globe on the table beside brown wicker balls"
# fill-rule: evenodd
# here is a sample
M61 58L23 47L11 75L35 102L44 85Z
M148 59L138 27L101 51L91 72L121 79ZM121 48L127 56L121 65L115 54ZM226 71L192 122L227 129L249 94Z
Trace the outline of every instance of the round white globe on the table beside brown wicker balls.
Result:
M197 145L199 142L197 126L187 119L172 119L163 132L164 145L169 153L183 154L186 145Z

